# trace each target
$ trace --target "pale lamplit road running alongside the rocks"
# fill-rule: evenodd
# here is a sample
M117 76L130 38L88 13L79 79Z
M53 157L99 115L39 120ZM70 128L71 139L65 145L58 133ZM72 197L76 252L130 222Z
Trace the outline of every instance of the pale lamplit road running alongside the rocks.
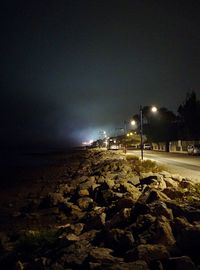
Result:
M127 150L127 154L140 156L140 151ZM164 165L170 172L200 183L200 156L144 150L144 159L154 160Z

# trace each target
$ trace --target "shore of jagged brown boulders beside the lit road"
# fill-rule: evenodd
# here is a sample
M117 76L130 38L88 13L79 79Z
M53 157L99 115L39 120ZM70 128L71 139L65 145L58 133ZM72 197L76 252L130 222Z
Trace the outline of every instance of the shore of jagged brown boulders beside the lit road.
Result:
M200 269L200 185L190 179L85 150L35 186L6 205L0 269Z

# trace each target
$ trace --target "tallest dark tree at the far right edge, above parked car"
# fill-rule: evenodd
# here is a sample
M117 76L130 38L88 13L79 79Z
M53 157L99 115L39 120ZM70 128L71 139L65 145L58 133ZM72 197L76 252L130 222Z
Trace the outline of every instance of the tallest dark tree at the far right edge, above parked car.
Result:
M185 101L178 108L179 137L185 140L200 139L200 101L194 91L186 94Z

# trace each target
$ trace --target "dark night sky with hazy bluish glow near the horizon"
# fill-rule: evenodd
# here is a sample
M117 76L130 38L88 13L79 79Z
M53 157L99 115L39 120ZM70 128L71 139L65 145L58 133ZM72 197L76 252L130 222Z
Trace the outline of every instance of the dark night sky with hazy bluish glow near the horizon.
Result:
M199 1L1 4L1 143L81 142L200 96Z

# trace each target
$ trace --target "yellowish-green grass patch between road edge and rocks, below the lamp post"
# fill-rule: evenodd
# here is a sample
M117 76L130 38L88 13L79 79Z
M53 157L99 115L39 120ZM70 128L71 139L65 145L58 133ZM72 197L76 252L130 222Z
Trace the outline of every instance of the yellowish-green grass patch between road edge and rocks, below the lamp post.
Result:
M132 155L127 156L126 159L131 165L132 170L136 174L148 173L148 172L157 173L165 169L164 166L158 165L155 161L152 161L149 159L140 160L139 157L132 156Z

